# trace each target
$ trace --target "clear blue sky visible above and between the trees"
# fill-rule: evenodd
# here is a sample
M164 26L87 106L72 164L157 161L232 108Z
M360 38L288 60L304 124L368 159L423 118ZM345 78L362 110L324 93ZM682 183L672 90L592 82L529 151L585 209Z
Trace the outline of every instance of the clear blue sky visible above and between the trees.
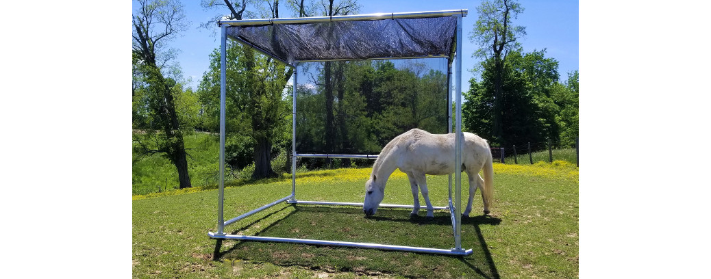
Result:
M479 61L471 58L478 48L468 39L469 32L476 22L476 6L480 1L407 1L407 0L360 0L360 13L390 13L408 11L441 11L450 9L468 9L469 15L464 18L464 46L462 61L462 86L469 89L469 79L474 75L468 70ZM213 31L198 28L200 23L215 16L215 11L203 11L200 1L183 1L188 21L191 21L189 31L171 42L173 48L181 50L177 62L183 70L183 77L191 78L191 87L196 88L203 72L210 65L210 53L220 46ZM525 52L547 48L546 57L555 58L559 62L558 72L561 80L567 78L567 72L579 70L578 67L578 1L540 0L520 1L525 9L514 23L525 26L528 33L520 41ZM282 8L283 17L291 16L287 9ZM225 11L227 13L227 11ZM217 24L215 24L217 28Z

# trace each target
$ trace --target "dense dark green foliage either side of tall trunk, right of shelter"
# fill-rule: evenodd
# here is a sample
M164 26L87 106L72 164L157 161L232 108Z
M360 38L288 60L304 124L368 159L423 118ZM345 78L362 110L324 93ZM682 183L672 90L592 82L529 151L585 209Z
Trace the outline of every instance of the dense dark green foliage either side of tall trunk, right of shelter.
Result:
M466 102L462 107L462 122L466 131L491 138L498 146L547 140L562 141L565 146L574 143L577 137L577 93L570 92L570 87L558 81L558 62L545 58L545 50L508 53L502 73L501 138L496 138L493 132L494 59L485 60L481 67L481 82L472 78L469 92L464 93Z

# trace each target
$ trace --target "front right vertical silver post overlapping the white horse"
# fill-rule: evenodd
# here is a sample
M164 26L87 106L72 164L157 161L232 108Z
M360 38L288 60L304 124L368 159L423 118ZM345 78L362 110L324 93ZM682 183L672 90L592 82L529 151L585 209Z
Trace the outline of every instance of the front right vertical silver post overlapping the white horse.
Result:
M464 134L461 133L461 23L462 17L456 17L456 132L454 136L454 248L461 250L461 146Z

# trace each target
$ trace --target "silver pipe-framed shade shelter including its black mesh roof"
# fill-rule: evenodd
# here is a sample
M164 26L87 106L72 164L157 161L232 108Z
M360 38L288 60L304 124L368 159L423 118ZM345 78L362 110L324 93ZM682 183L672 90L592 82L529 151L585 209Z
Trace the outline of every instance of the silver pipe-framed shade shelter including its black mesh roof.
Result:
M321 16L310 18L270 18L219 21L222 28L221 80L220 80L220 187L218 190L218 231L209 232L214 239L239 239L250 241L275 241L299 244L378 248L384 250L471 255L472 250L461 248L461 28L467 10L425 11L415 13L373 13L352 16ZM296 114L297 65L299 62L338 60L383 60L408 58L448 58L449 98L452 89L452 64L455 69L456 137L454 171L454 201L452 181L449 175L449 206L434 209L449 209L454 232L454 248L424 248L394 246L344 241L314 239L287 239L266 236L225 234L225 226L264 209L288 202L290 204L324 204L363 206L354 202L312 202L296 199L296 160L292 160L292 195L225 221L225 80L227 38L237 40L260 53L294 67L293 111ZM449 107L451 102L447 101ZM451 109L448 131L451 133ZM378 158L377 155L348 154L299 154L296 152L296 117L292 123L292 155L294 158ZM455 206L456 204L456 206ZM380 207L413 208L412 205L380 204Z

